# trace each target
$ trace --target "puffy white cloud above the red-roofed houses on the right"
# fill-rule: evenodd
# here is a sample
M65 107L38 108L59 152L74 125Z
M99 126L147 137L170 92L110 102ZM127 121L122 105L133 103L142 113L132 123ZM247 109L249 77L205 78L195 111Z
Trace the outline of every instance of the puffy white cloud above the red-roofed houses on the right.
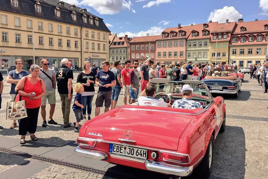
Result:
M214 9L214 11L210 13L208 21L212 20L213 22L218 21L219 23L224 23L226 22L226 19L229 19L229 22L232 22L237 21L241 17L242 14L240 14L233 6L224 6L222 9Z

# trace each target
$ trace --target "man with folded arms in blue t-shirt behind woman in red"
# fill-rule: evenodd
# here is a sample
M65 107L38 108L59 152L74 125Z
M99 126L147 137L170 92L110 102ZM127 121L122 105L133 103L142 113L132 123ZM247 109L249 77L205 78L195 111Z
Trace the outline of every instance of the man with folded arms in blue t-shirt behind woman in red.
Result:
M15 66L16 66L16 70L11 70L8 73L8 76L6 77L6 82L7 83L11 83L11 89L10 89L10 102L12 102L16 96L16 92L15 92L15 87L18 84L18 81L20 81L20 79L23 76L27 76L29 75L27 71L23 70L23 63L21 59L16 59L15 60ZM15 127L17 127L17 123L16 120L13 120L12 125L10 126L10 129L14 129Z

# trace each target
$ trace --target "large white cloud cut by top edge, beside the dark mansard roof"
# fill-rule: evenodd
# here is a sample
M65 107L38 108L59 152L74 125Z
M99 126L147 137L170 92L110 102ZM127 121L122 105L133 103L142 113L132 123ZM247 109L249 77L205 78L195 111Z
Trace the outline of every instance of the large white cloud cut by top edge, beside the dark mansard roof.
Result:
M136 12L131 7L131 1L127 0L82 0L79 4L84 6L90 6L100 14L116 14L120 10L124 9L132 10L133 13Z

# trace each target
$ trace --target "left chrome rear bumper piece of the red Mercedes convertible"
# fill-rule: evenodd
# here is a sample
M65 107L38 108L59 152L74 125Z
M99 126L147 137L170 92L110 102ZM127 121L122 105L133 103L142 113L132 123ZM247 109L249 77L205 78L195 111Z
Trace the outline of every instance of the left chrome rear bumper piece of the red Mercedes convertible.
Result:
M97 160L107 160L108 158L108 155L105 152L90 149L82 149L80 147L75 148L75 153Z

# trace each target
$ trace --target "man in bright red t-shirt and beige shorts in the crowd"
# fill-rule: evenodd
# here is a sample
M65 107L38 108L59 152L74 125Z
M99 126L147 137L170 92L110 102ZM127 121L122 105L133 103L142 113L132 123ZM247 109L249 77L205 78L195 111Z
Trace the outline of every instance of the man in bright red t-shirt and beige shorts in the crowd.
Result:
M128 103L130 103L131 96L129 92L130 82L129 82L129 66L131 65L130 60L125 61L125 68L121 71L121 82L123 84L123 93L124 93L124 103L126 104L127 97Z

